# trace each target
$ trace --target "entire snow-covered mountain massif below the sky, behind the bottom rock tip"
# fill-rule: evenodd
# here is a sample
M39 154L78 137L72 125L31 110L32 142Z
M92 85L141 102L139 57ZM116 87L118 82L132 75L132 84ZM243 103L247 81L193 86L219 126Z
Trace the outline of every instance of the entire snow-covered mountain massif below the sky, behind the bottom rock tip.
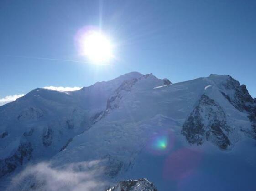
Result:
M255 139L256 100L229 75L37 88L0 106L0 190L254 190Z

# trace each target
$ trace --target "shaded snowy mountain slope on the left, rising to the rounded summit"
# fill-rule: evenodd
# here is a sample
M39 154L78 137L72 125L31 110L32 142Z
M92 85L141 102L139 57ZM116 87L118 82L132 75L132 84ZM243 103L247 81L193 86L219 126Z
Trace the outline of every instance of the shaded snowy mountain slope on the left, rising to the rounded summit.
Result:
M114 90L141 76L131 72L72 92L37 88L1 106L0 177L31 158L47 159L62 150L91 127L90 118L106 108Z

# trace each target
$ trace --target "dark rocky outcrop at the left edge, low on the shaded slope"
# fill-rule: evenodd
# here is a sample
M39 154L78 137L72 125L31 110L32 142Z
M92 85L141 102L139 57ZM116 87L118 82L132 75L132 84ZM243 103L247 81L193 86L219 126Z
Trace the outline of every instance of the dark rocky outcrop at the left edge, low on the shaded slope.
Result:
M17 166L22 165L25 160L29 161L32 158L32 152L33 149L30 142L21 142L19 148L12 156L0 160L0 177L14 171Z

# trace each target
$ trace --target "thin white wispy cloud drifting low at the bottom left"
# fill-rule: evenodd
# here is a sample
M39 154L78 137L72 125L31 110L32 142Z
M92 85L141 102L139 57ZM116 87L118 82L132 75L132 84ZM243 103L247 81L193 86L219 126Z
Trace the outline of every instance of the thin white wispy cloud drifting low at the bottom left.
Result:
M99 161L79 162L53 167L51 163L27 166L15 176L7 191L95 191L106 190Z

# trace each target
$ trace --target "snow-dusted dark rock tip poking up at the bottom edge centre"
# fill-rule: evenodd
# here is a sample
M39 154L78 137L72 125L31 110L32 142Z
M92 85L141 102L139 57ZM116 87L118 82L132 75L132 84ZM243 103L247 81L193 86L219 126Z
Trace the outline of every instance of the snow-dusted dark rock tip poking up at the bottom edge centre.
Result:
M138 180L120 181L107 191L157 191L154 184L146 178Z

